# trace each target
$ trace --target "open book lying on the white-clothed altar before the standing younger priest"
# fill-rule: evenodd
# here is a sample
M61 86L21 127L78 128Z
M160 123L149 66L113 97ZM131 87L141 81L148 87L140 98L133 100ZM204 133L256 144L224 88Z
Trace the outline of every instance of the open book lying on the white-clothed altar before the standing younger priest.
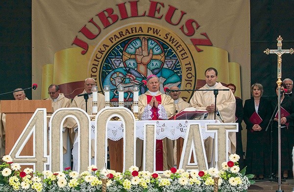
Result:
M208 113L207 110L197 110L194 107L188 107L172 115L172 117L170 117L169 120L204 119L204 116L207 113Z

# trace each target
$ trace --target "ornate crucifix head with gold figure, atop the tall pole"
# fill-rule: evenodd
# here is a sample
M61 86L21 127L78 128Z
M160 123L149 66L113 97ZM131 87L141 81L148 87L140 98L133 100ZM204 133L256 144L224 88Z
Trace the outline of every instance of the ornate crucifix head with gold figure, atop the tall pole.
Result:
M279 35L279 37L277 38L277 46L278 46L278 49L269 49L267 48L264 53L269 55L270 53L275 53L277 54L278 56L278 81L277 81L277 84L278 84L278 87L281 86L282 84L282 81L281 81L281 78L282 78L282 55L284 53L290 53L290 54L293 54L294 53L294 49L291 48L291 49L282 49L282 41L283 41L283 38Z

